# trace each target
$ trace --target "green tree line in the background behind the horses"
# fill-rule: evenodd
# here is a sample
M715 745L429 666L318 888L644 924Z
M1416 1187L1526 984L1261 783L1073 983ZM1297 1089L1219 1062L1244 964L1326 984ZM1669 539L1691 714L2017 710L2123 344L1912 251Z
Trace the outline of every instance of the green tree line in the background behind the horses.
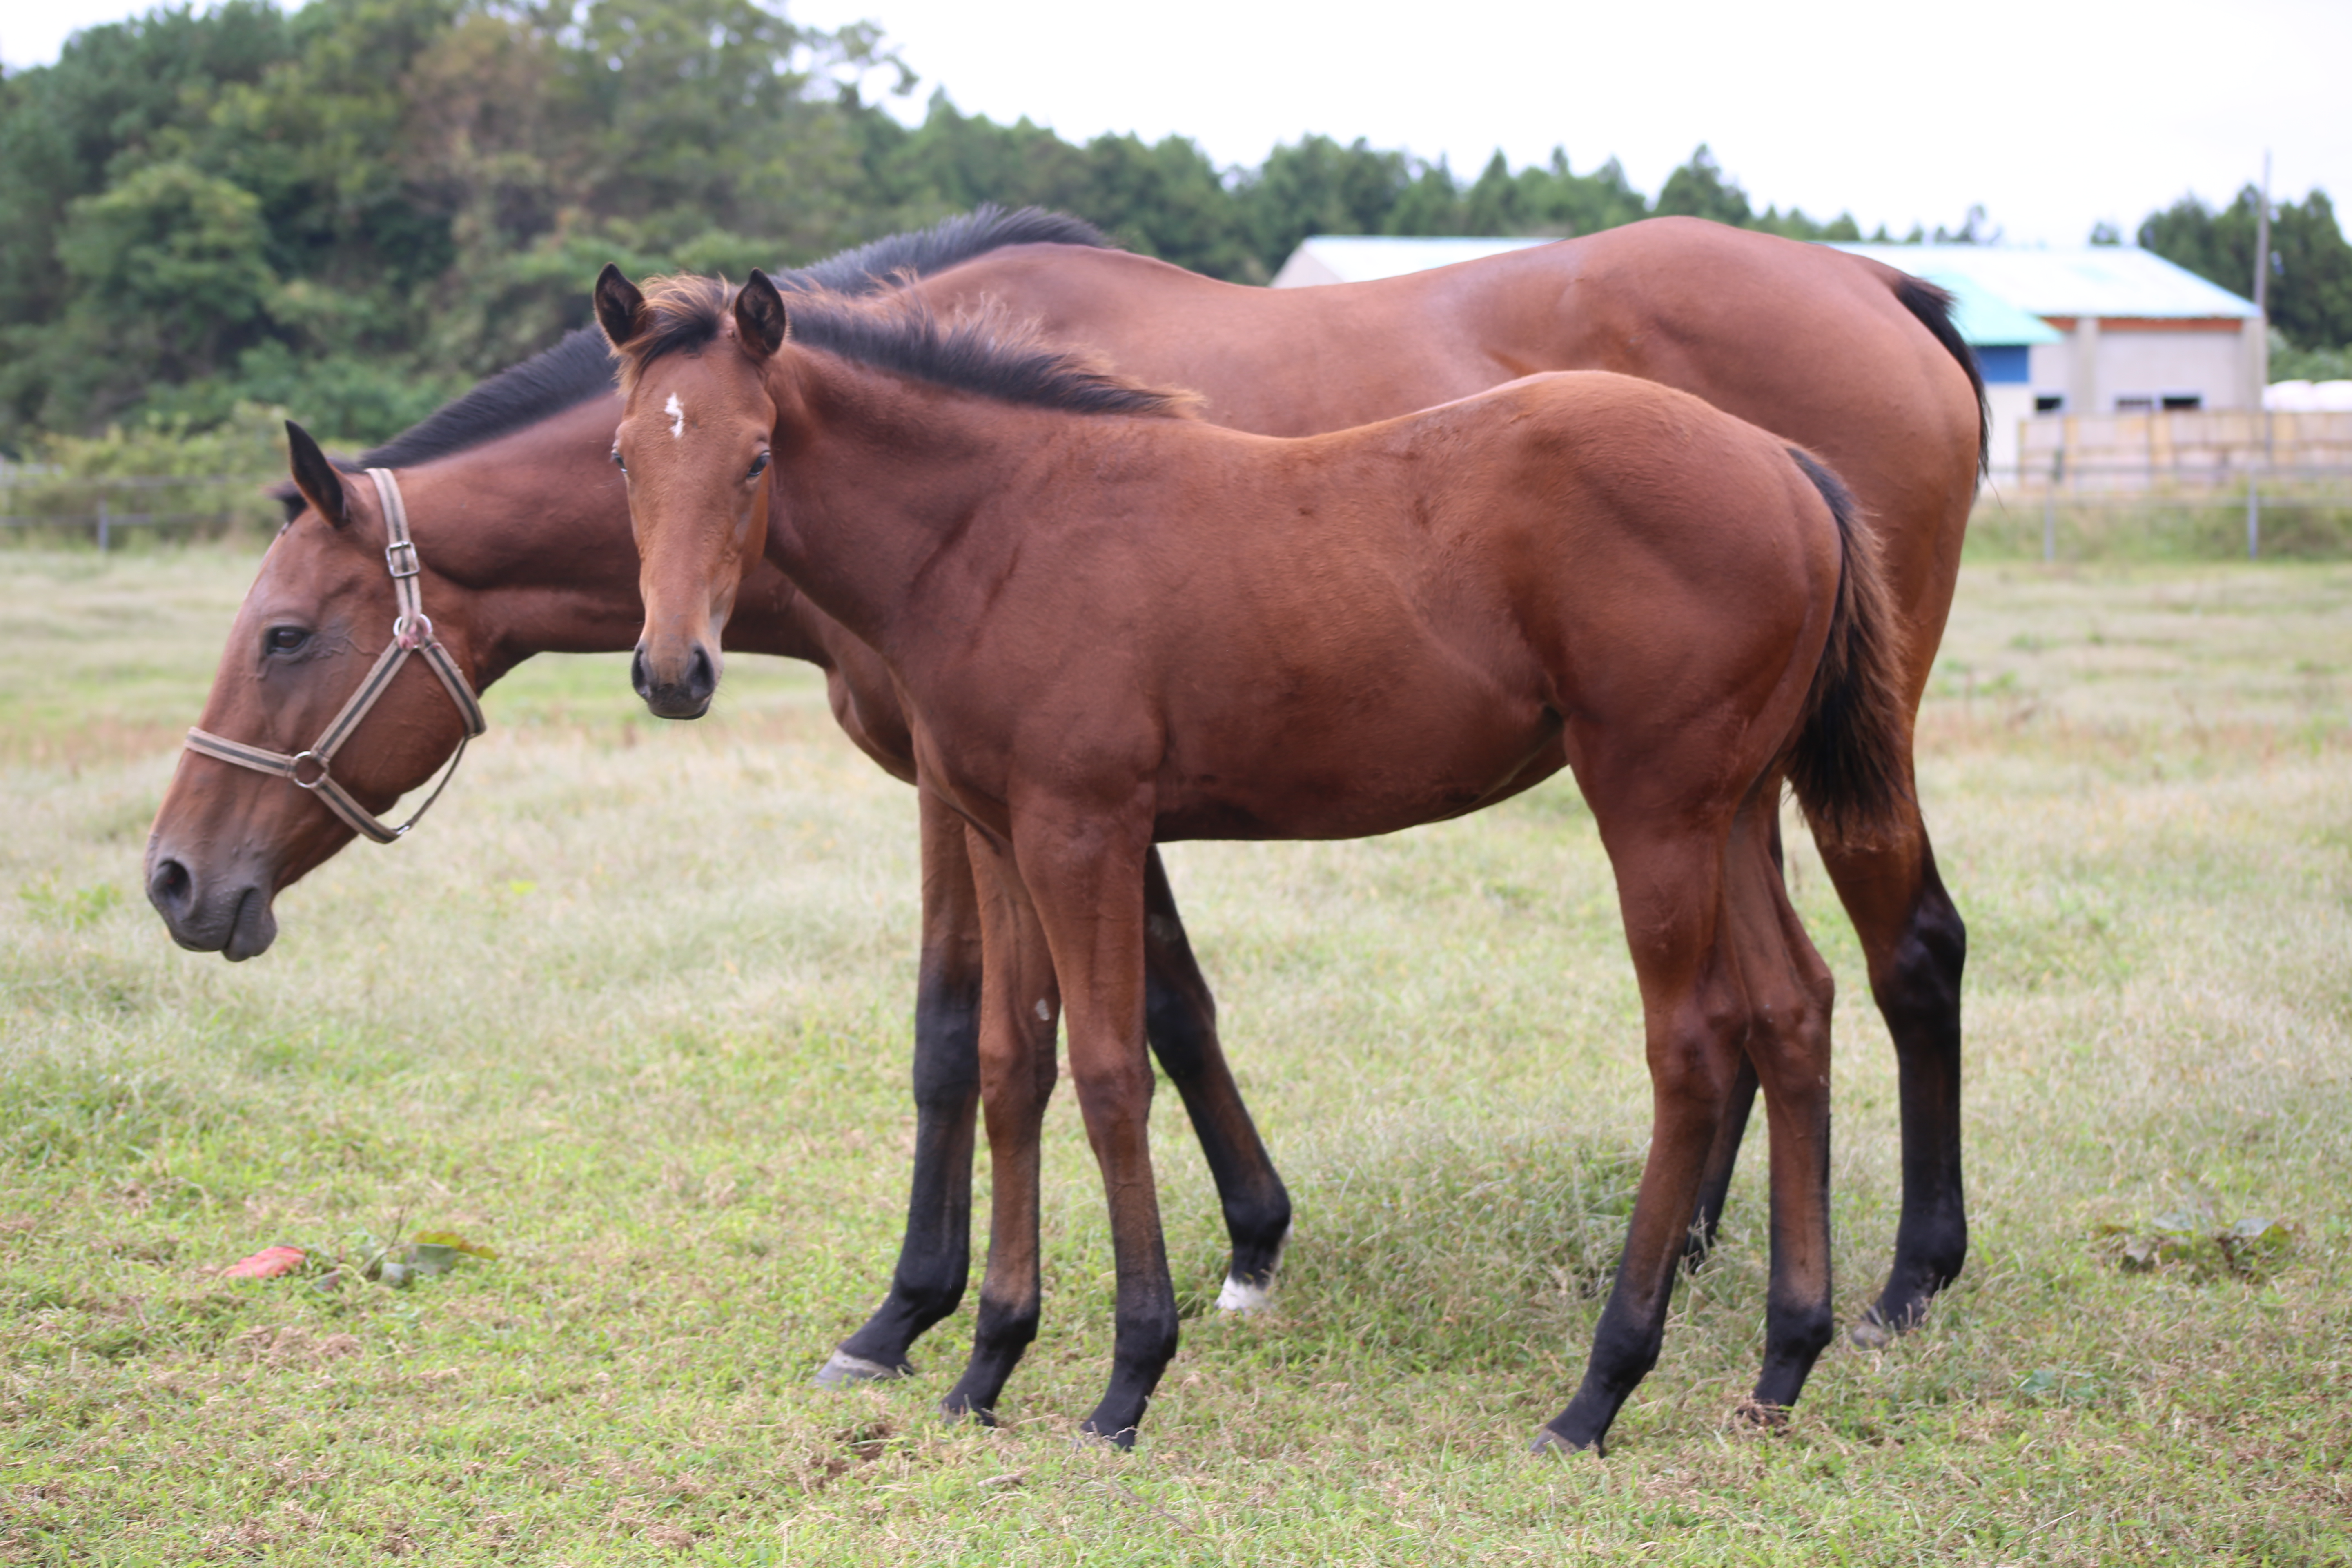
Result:
M1221 169L1185 136L1073 143L943 92L906 127L866 96L894 73L913 85L873 28L760 0L223 0L89 28L0 80L0 451L108 423L207 430L254 402L379 440L583 324L607 259L743 275L978 202L1075 212L1240 282L1317 233L1691 214L1863 237L1846 214L1757 212L1705 146L1656 197L1613 158L1578 174L1562 150L1465 179L1305 136ZM2239 207L2190 200L2143 242L2244 289L2251 270L2223 275ZM2352 341L2352 266L2305 287L2303 268L2352 263L2326 197L2281 207L2274 233L2279 324ZM1985 237L1983 212L1907 237ZM2251 233L2239 249L2251 268Z

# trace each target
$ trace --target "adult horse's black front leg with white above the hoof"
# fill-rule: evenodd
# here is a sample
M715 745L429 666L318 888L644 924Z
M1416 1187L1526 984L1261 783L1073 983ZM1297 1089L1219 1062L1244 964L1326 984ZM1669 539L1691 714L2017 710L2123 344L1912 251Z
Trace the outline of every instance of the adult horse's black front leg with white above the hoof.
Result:
M1216 1039L1216 997L1192 961L1176 914L1176 893L1152 849L1143 863L1143 1032L1152 1056L1183 1095L1185 1114L1209 1159L1216 1197L1232 1237L1232 1265L1216 1305L1256 1312L1270 1298L1282 1241L1291 1232L1291 1194L1265 1157L1258 1128Z

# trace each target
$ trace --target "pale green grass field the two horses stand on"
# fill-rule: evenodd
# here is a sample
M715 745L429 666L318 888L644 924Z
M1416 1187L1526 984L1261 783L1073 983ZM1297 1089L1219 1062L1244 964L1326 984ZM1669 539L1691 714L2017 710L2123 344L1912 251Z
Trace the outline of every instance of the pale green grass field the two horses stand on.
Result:
M997 1432L807 1387L903 1201L913 797L807 672L699 726L536 661L426 827L183 954L139 851L233 550L0 555L0 1561L2317 1563L2352 1556L2352 569L1971 567L1922 726L1971 929L1976 1248L1933 1321L1731 1420L1762 1145L1606 1460L1573 1387L1649 1124L1566 783L1369 844L1176 846L1298 1201L1218 1321L1155 1126L1185 1340L1134 1455L1073 1443L1110 1246L1063 1093L1047 1326ZM1839 973L1839 1312L1896 1213ZM985 1182L985 1161L983 1161ZM496 1248L395 1291L383 1246ZM270 1244L301 1276L226 1281ZM325 1274L341 1267L339 1286Z

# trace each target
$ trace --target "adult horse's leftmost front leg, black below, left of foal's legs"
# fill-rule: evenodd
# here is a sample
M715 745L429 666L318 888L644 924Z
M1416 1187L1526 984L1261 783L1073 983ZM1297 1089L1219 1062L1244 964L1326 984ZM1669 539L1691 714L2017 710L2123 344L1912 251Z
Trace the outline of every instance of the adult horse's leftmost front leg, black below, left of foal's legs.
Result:
M915 990L915 1180L889 1295L816 1373L821 1387L910 1371L915 1340L971 1276L971 1121L981 1103L981 907L964 818L922 795L922 969Z

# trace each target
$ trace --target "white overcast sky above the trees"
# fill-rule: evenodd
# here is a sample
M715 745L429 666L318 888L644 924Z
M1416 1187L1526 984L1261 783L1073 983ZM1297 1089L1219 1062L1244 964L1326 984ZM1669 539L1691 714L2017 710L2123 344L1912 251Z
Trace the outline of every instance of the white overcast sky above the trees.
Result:
M12 0L0 59L56 59L125 0ZM2126 230L2185 190L2260 179L2352 200L2352 5L1976 0L1590 5L1446 0L795 0L816 26L873 19L974 113L1077 141L1192 136L1218 162L1277 141L1444 155L1477 174L1552 146L1609 155L1656 195L1710 143L1762 207L1851 209L1863 228L1957 226L1971 202L2009 240Z

